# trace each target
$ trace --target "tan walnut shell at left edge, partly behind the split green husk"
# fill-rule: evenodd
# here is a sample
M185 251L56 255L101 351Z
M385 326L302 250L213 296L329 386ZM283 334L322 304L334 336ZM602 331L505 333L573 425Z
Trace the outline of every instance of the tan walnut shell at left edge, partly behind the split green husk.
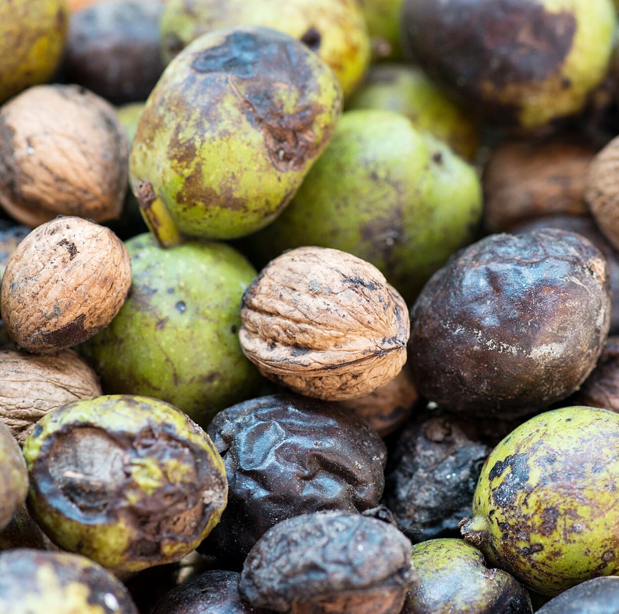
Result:
M0 419L20 445L48 411L100 395L97 374L72 349L57 356L0 349Z

